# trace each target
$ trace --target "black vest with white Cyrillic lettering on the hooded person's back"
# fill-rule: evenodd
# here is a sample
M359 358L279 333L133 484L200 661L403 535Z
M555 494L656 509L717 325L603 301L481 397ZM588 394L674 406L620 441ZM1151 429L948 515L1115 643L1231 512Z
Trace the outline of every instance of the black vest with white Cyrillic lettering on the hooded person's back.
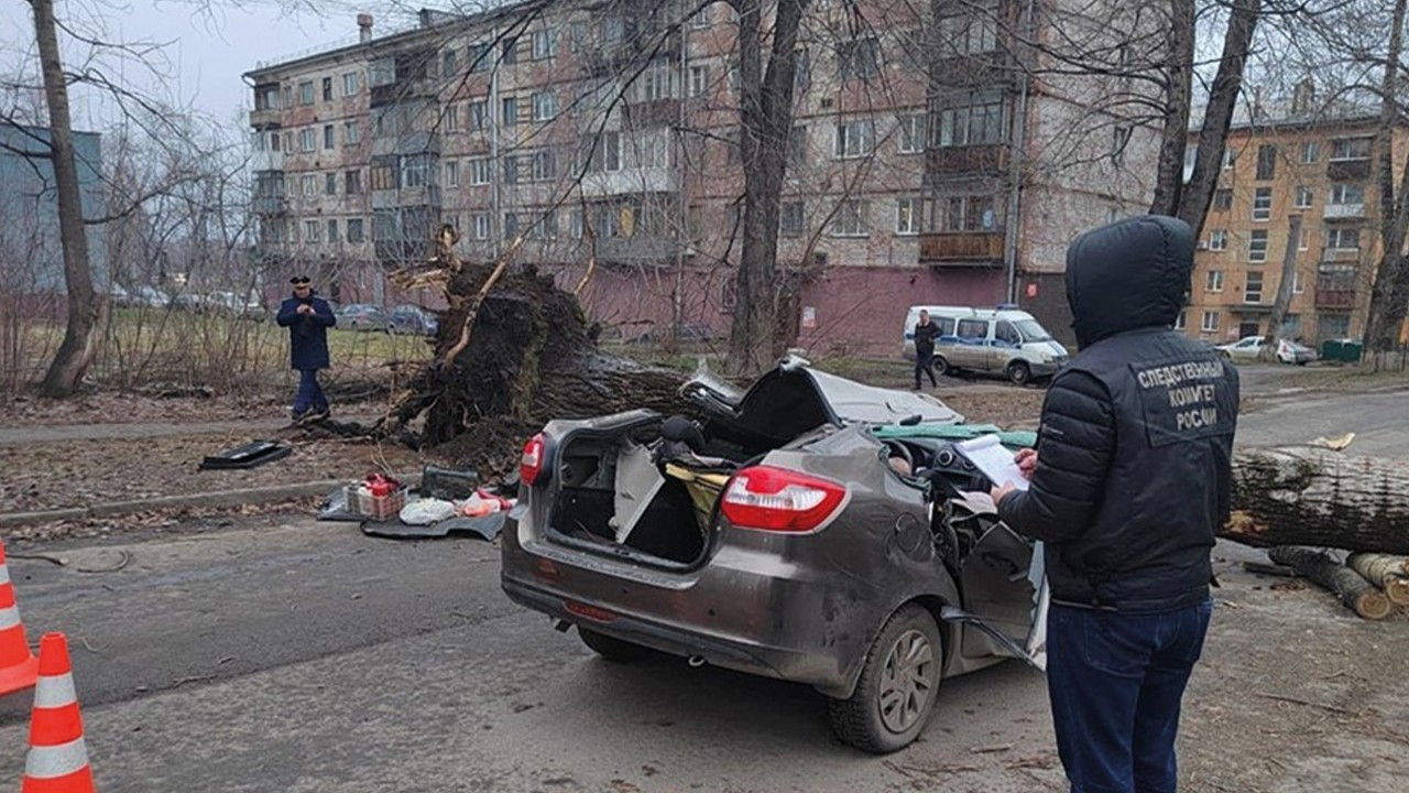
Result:
M1048 547L1053 597L1120 611L1208 597L1209 549L1230 508L1237 370L1154 327L1092 344L1068 371L1106 387L1116 443L1091 528Z

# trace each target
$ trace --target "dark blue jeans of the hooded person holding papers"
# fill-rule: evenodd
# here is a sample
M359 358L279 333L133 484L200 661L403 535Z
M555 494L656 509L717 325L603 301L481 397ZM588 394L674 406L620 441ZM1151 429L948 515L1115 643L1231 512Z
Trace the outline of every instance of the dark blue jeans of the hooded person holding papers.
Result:
M1047 689L1072 793L1174 793L1179 701L1213 601L1161 614L1053 604Z

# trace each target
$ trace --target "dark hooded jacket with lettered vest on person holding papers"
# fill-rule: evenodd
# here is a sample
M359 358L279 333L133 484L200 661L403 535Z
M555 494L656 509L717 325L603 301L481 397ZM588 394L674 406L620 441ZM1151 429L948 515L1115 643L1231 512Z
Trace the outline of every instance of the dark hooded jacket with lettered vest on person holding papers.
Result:
M1067 251L1081 353L1047 391L1030 488L999 505L1047 543L1054 601L1153 612L1208 597L1239 377L1172 330L1192 271L1193 234L1171 217L1096 229Z

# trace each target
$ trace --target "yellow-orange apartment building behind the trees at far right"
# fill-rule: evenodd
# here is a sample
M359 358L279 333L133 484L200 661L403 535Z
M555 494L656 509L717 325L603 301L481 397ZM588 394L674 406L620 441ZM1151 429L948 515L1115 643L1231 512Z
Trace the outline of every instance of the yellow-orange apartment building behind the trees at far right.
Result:
M1289 246L1295 274L1282 334L1309 344L1364 334L1382 254L1375 179L1389 141L1378 137L1378 111L1315 107L1312 99L1303 83L1291 104L1258 107L1229 134L1181 316L1189 336L1222 344L1271 333ZM1394 145L1409 145L1409 124L1395 128ZM1396 162L1402 174L1403 158ZM1301 217L1296 238L1292 216Z

